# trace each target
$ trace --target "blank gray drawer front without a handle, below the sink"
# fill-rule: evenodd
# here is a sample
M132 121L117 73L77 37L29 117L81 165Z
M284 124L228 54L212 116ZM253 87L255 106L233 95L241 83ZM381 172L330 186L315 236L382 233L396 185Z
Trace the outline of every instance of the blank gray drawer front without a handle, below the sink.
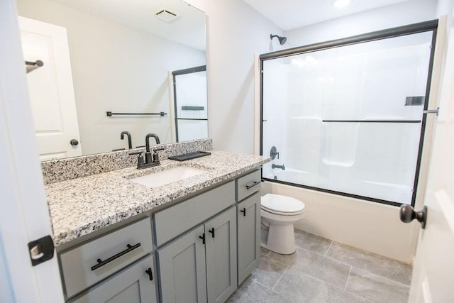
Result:
M155 214L156 245L161 246L181 233L235 204L235 182L229 182Z

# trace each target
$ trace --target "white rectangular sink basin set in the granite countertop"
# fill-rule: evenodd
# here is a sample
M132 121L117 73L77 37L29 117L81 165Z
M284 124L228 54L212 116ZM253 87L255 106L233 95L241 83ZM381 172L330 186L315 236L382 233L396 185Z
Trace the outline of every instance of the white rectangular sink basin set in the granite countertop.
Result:
M149 175L131 179L131 181L148 187L160 187L162 185L177 182L207 171L208 170L201 170L195 167L178 166L171 168L170 170L152 172Z

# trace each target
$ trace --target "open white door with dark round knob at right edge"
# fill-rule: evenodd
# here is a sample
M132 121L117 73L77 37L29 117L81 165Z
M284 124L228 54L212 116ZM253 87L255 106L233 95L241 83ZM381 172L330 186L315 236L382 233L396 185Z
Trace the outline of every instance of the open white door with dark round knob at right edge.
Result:
M454 302L454 31L448 39L425 205L409 302Z

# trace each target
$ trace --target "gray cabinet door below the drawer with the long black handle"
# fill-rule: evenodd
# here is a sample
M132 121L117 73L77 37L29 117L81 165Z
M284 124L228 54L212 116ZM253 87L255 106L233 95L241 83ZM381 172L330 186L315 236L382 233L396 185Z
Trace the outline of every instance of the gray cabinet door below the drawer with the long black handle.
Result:
M153 277L148 274L152 270ZM153 257L145 259L118 272L105 282L93 287L87 294L72 303L140 303L157 302Z

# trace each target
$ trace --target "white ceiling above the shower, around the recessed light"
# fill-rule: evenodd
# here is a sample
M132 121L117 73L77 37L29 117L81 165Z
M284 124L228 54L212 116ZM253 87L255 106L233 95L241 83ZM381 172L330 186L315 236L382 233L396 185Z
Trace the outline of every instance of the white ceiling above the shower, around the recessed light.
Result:
M243 0L275 23L282 31L378 9L409 0L351 0L348 6L337 8L333 0Z

